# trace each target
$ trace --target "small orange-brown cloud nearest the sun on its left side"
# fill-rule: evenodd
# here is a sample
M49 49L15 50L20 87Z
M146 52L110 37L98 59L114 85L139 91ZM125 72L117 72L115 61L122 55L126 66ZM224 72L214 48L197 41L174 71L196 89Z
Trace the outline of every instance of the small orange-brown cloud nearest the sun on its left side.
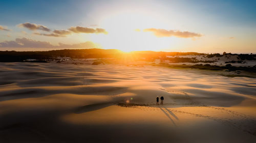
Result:
M70 27L70 31L74 33L103 33L108 34L103 28L88 28L88 27L82 27L82 26L76 26L76 27Z

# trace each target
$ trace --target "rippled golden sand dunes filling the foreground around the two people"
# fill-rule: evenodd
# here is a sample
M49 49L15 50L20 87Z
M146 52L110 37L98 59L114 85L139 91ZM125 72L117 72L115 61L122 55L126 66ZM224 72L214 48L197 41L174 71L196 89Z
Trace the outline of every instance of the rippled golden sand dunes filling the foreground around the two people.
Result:
M0 63L0 142L256 142L255 95L214 71Z

